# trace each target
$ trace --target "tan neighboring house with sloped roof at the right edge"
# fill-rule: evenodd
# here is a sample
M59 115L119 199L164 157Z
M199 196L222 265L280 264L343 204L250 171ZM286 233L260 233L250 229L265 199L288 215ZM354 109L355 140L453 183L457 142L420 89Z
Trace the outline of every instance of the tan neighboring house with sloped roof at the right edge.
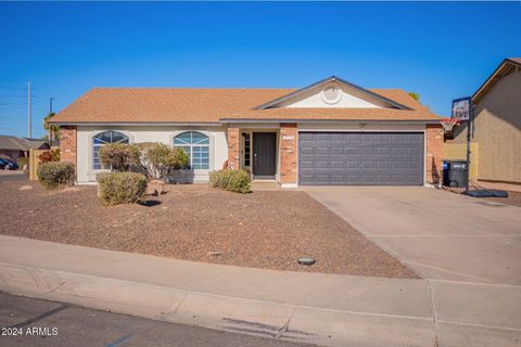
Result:
M521 184L521 57L504 60L472 101L474 179ZM466 126L456 127L454 140L447 141L466 142Z

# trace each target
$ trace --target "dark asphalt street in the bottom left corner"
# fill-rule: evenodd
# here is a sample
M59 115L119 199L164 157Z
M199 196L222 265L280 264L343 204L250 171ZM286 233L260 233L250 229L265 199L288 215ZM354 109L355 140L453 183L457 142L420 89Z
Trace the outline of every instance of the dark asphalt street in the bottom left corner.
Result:
M0 346L305 347L0 292Z

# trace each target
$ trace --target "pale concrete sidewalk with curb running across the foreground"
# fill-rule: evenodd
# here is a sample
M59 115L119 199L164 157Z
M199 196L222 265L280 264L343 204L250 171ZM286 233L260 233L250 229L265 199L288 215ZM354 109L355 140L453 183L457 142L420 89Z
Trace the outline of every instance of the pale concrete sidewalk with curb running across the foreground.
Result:
M330 346L516 346L521 287L218 266L0 235L0 290Z

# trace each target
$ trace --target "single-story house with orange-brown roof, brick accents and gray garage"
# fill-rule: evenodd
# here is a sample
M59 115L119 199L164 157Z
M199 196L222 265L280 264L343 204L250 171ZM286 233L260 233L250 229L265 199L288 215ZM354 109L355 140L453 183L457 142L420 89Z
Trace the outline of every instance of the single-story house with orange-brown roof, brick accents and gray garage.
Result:
M58 114L62 160L79 183L106 143L183 147L194 181L226 164L296 185L437 184L440 116L399 89L330 77L303 89L93 88Z

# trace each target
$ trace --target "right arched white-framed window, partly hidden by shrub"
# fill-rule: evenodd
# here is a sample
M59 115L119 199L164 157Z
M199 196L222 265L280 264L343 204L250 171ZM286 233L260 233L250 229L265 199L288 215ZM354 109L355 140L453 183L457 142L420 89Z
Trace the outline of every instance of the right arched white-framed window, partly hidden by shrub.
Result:
M174 138L174 146L183 149L190 158L190 168L209 169L209 139L207 136L187 131Z

